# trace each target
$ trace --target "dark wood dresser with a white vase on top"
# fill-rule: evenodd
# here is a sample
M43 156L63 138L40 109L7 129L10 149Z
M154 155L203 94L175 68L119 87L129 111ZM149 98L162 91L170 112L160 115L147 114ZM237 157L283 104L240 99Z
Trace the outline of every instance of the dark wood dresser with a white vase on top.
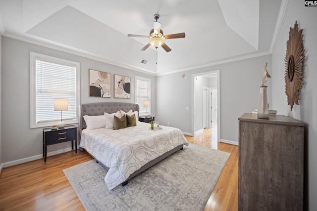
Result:
M302 211L305 124L284 115L238 120L238 210Z

